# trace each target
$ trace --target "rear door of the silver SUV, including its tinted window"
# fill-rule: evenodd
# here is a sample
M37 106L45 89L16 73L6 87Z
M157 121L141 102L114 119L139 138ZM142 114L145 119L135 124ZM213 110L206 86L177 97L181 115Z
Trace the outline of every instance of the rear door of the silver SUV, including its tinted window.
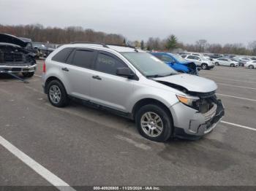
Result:
M95 58L96 51L86 48L76 48L69 55L61 70L69 84L70 95L90 100L91 67Z

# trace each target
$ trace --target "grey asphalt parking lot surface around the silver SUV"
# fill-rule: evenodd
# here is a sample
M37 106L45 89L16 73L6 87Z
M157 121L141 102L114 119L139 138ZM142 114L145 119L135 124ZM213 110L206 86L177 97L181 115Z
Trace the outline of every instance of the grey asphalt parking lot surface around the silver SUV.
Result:
M53 175L72 186L256 185L256 70L200 71L219 86L223 122L198 141L160 144L124 118L75 102L50 106L38 67L29 84L0 78L0 185L47 186L58 182Z

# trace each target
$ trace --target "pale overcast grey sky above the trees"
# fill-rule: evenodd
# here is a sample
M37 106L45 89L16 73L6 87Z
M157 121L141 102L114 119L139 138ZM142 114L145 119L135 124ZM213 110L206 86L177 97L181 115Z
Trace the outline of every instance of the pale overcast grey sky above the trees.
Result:
M256 0L0 0L0 24L82 26L129 40L243 43L256 40Z

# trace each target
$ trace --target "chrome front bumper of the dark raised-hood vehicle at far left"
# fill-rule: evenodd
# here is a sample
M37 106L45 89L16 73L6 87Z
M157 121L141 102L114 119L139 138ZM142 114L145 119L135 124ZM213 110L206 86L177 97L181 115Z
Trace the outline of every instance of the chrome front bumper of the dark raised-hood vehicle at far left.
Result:
M20 72L34 72L37 70L37 64L34 65L22 65L22 66L12 66L12 65L1 65L0 73L20 73Z

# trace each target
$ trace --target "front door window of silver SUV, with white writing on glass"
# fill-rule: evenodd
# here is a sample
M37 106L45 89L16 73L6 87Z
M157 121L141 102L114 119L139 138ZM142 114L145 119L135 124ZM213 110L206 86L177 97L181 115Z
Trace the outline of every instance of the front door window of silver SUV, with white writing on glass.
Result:
M103 53L99 53L97 57L97 61L95 64L95 69L97 71L102 71L107 74L116 75L117 68L127 68L127 66L119 61L116 58L113 58L110 55L105 55Z

